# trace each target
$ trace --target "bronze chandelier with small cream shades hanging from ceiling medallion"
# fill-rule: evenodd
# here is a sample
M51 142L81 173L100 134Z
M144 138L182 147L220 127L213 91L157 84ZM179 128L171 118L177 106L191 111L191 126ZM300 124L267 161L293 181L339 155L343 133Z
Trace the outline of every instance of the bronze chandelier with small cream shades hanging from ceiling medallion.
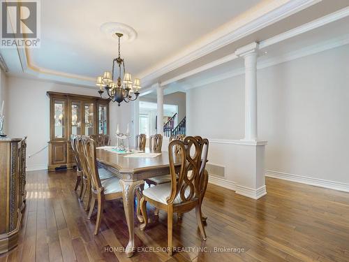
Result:
M98 93L103 98L103 87L107 92L106 99L112 99L113 102L117 102L120 106L122 101L128 103L129 101L135 101L140 95L140 79L135 78L132 82L131 73L126 73L124 59L120 57L120 38L123 36L121 33L116 33L119 41L119 56L112 60L112 72L105 71L103 76L98 76L96 85L99 87ZM114 67L115 62L119 66L119 76L114 82ZM124 71L124 80L121 83L121 66Z

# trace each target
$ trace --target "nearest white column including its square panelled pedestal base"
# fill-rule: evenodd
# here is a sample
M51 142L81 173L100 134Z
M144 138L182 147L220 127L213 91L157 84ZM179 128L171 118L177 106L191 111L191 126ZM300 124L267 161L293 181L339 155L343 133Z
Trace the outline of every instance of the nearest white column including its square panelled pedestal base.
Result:
M236 143L239 159L235 164L235 193L251 198L267 194L265 187L265 145L258 140L257 131L257 56L258 43L251 43L235 51L245 62L245 136Z

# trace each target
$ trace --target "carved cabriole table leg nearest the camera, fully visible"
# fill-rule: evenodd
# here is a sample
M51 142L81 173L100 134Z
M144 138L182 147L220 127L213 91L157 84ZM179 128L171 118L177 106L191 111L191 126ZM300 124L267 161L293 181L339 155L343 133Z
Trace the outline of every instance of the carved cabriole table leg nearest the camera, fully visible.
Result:
M122 187L122 197L124 201L124 210L126 215L126 222L128 226L128 244L126 247L126 256L133 256L135 250L135 234L134 234L134 224L133 224L133 212L135 208L135 189L143 184L142 180L140 181L124 181L120 180Z

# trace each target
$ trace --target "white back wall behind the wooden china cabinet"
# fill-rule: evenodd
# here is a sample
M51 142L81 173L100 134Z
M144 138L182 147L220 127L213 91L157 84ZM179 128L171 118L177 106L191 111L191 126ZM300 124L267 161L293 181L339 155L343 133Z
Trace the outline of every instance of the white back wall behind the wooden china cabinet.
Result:
M98 96L97 89L61 85L54 82L8 77L7 79L7 132L12 137L28 136L27 155L38 152L50 140L50 99L47 91L69 94ZM110 133L112 140L119 122L126 131L126 117L130 117L131 106L122 103L120 107L110 102ZM121 117L122 115L122 117ZM132 129L132 125L130 126ZM132 131L132 130L131 130ZM28 170L47 168L48 150L27 159Z

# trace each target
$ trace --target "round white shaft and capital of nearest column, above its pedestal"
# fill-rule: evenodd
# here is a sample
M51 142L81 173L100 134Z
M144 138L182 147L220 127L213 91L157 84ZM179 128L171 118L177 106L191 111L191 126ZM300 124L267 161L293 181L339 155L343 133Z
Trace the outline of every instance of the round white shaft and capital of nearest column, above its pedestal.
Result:
M258 43L251 43L235 51L245 61L245 137L244 140L258 139L257 122L257 50Z

